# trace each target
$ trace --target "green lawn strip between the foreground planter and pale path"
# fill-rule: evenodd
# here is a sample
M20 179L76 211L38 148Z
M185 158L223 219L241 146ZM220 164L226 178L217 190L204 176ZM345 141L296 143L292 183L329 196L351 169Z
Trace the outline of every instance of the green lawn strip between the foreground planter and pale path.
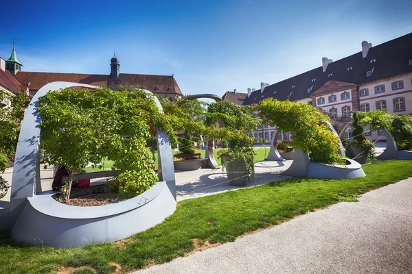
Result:
M364 192L412 177L407 160L365 164L367 177L356 179L288 179L188 199L163 223L123 240L78 249L19 245L9 231L0 232L0 273L49 273L61 266L89 266L95 273L124 271L163 263L194 250L193 240L223 243L247 232L277 225L299 214L340 201L356 201ZM78 270L77 273L94 273ZM75 272L75 273L76 273Z

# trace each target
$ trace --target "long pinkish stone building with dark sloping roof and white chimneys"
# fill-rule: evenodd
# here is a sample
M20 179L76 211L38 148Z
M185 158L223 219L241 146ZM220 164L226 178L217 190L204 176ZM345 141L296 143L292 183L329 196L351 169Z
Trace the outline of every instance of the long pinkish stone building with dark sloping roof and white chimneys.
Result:
M363 41L361 51L353 55L337 61L322 58L322 66L275 84L261 83L260 90L248 89L246 97L230 93L226 99L246 105L266 98L310 103L328 113L338 130L351 121L353 111L386 109L412 115L412 33L377 46ZM273 133L273 128L264 127L253 134L270 139ZM385 140L382 132L367 134Z

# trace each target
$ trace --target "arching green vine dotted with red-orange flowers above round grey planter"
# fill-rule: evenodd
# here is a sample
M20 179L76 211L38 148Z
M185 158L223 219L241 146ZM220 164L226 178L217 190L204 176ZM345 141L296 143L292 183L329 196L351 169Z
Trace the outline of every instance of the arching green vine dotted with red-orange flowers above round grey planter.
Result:
M319 109L307 103L266 99L258 106L264 123L293 133L290 145L307 151L314 162L341 163L339 138L326 125L330 121Z

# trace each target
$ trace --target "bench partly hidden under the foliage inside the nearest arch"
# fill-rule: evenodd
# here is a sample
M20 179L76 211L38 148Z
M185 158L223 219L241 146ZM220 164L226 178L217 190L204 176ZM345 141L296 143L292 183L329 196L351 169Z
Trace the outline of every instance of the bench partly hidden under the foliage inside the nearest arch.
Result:
M80 181L84 179L96 179L96 178L106 178L115 177L119 171L97 171L90 173L76 174L73 177L73 182ZM62 184L69 182L69 176L62 177ZM92 195L98 193L106 192L106 181L101 182L91 182L89 186L80 186L71 188L70 198L75 198L83 195Z

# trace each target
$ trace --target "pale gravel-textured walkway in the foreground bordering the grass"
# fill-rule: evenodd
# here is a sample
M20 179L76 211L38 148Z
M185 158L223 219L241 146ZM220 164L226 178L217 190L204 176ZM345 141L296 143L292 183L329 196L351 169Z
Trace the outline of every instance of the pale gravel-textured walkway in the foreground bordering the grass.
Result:
M412 178L136 273L412 273Z

